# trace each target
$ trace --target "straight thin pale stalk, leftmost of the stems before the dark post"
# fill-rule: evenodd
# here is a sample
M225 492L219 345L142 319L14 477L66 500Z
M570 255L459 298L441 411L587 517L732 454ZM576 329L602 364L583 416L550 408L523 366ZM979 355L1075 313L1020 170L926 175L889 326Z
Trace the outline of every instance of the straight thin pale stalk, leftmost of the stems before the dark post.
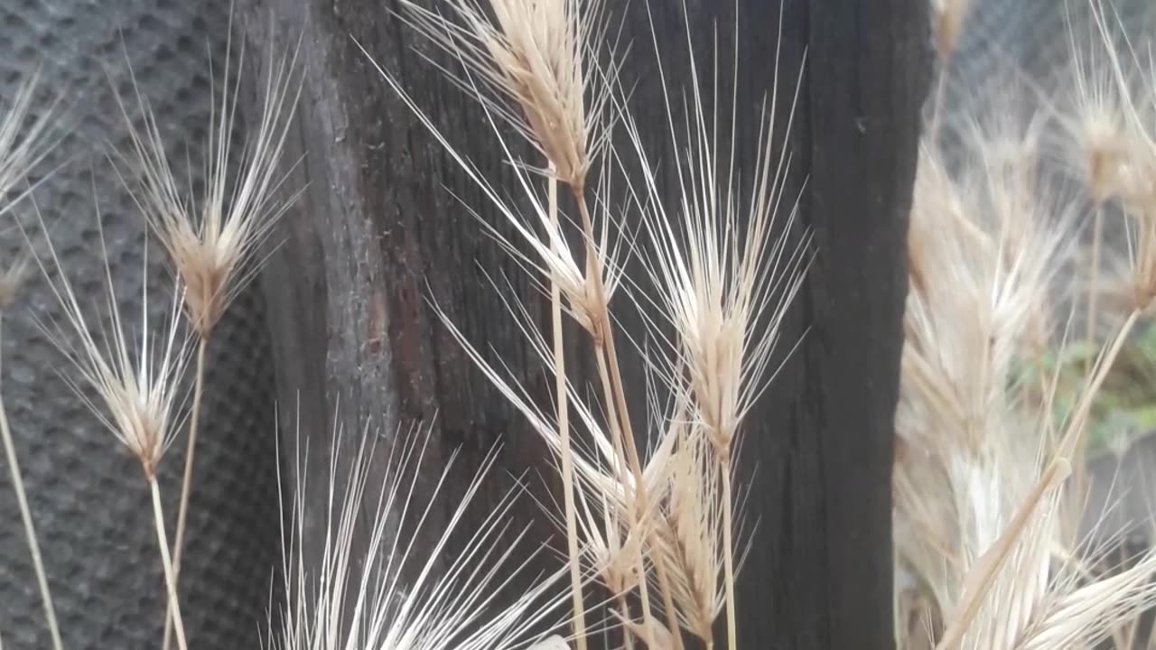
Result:
M550 164L554 171L554 164ZM558 179L547 180L550 227L558 228ZM562 338L562 288L550 279L550 323L554 332L554 393L557 400L558 435L562 438L562 501L566 516L566 544L570 553L570 593L573 607L573 634L578 650L586 650L586 607L581 594L581 556L578 551L578 520L575 508L573 457L570 450L570 413L566 393L565 345Z

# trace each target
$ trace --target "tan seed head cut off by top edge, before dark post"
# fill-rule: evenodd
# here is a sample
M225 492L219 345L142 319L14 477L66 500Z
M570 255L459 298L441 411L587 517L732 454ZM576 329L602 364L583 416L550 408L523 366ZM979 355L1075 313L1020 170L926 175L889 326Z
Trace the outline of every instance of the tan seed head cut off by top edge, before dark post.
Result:
M603 108L614 87L614 67L598 66L607 31L602 0L484 3L489 12L479 0L452 0L447 19L402 0L403 17L464 65L465 76L447 75L532 142L558 180L580 192L606 134ZM593 89L588 102L587 89Z

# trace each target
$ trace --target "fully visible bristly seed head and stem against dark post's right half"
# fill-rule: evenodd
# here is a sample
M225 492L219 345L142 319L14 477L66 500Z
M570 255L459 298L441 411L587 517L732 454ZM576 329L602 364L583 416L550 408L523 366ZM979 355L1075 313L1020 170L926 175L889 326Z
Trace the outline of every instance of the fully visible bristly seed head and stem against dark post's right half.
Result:
M781 13L779 34L781 35ZM738 19L735 47L738 49ZM661 64L658 71L664 89L664 105L676 155L676 201L666 205L667 193L658 179L658 165L646 154L642 135L629 115L622 121L633 154L642 163L642 184L631 194L650 235L651 246L645 267L658 290L657 303L662 318L673 326L674 340L654 327L657 340L667 340L673 355L666 382L674 391L688 390L691 400L694 430L706 435L718 463L712 474L721 482L721 524L703 535L721 532L718 540L725 560L728 643L738 643L734 600L733 494L731 486L735 436L741 421L773 377L769 372L772 353L779 340L779 328L786 309L798 293L808 263L809 235L792 248L798 198L785 197L790 168L786 147L776 153L776 140L785 141L791 131L794 106L802 87L802 67L794 80L790 97L787 124L783 132L776 124L779 108L778 50L775 81L761 106L758 149L749 189L741 187L743 170L738 169L738 50L734 52L729 98L729 133L720 133L720 115L726 117L719 98L719 80L710 89L699 77L691 46L689 24L687 46L690 51L689 97L682 121L675 116L669 88ZM662 60L658 43L655 57ZM718 52L714 52L718 59ZM716 64L716 74L717 74ZM709 98L707 98L709 97ZM769 106L768 106L769 103ZM625 111L623 111L625 113ZM680 124L682 125L680 127ZM722 126L721 130L726 127ZM629 175L628 175L629 177ZM785 215L783 231L775 236L777 217ZM684 375L684 376L683 376ZM686 389L683 385L686 384ZM709 478L709 477L704 477ZM699 570L704 570L704 568ZM695 582L686 576L686 582ZM699 634L703 626L695 628Z

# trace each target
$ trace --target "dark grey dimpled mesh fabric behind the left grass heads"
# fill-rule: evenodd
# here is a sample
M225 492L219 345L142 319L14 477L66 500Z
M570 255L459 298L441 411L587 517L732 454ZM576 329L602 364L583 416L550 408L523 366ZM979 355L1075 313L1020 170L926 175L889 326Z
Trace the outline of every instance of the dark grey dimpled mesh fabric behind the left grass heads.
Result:
M198 167L209 120L209 54L220 71L228 17L228 0L0 3L0 99L7 102L20 80L43 64L45 93L38 105L47 104L49 91L65 93L71 104L61 125L68 135L38 173L72 162L37 199L54 224L52 241L62 266L94 313L103 295L94 193L124 313L139 322L146 281L155 316L168 309L170 296L170 275L154 244L143 268L143 222L102 153L106 143L128 150L112 87L131 97L131 61L172 155L183 161L187 146ZM34 217L27 208L17 214L29 222ZM16 230L2 230L0 264L21 243ZM62 316L38 273L3 316L0 369L65 645L155 648L163 622L163 578L144 481L135 461L57 374L66 370L65 357L34 325L34 313L42 319ZM247 293L217 328L209 350L180 583L194 648L255 648L266 620L272 570L280 561L269 359L261 301ZM170 535L184 443L181 436L161 472ZM6 650L50 647L2 463L0 635Z

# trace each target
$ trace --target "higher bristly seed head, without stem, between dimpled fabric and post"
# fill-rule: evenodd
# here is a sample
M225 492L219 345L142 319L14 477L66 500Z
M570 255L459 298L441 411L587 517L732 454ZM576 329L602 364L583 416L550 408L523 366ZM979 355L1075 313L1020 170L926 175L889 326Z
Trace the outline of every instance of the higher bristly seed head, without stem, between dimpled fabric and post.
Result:
M206 189L198 201L183 192L172 171L156 117L141 97L135 75L133 90L143 113L140 128L117 97L133 142L135 160L131 164L140 175L134 200L186 286L185 311L202 338L208 338L229 304L260 269L261 246L301 194L299 190L284 192L291 170L279 171L303 83L303 77L295 79L294 74L297 51L280 60L271 53L260 118L249 130L253 135L236 170L230 169L230 163L240 75L230 81L230 53L231 38L225 49L220 101L214 97L212 102L203 163ZM238 67L243 61L244 49Z

